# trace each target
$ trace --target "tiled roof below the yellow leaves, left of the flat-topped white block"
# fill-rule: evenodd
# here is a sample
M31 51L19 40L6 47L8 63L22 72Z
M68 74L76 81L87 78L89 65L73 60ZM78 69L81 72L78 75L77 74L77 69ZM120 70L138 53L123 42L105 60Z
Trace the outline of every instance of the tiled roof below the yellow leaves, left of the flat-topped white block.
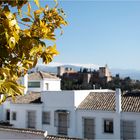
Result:
M14 104L41 104L41 93L32 92L25 95L19 95L16 97L15 101L12 101L12 98L8 98L8 101L11 101Z

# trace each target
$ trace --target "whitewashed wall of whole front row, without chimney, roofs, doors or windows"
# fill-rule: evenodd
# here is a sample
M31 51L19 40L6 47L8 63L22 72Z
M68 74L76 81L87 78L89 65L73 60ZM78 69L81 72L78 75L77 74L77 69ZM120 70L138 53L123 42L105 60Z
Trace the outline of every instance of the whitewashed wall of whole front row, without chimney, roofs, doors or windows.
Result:
M82 118L95 119L96 139L120 139L120 120L136 121L136 138L140 139L140 113L122 113L109 111L76 110L76 107L90 92L108 92L108 90L85 90L85 91L44 91L41 93L43 104L11 104L5 102L3 105L3 120L5 120L6 109L17 112L17 120L10 120L14 127L27 127L27 111L36 111L36 129L47 130L49 135L57 135L54 126L54 112L56 110L67 110L70 112L70 127L68 136L83 138ZM42 112L49 111L51 115L50 125L42 124ZM114 133L104 133L104 119L112 119L114 122Z

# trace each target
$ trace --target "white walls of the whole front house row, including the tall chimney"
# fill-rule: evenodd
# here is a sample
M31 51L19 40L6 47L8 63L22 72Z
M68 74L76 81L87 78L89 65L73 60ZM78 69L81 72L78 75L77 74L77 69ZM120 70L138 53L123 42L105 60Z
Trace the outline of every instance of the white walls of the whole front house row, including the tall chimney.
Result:
M53 83L52 85L56 84ZM65 135L82 139L84 139L85 126L83 121L85 119L94 120L94 128L92 131L94 139L120 139L121 121L132 121L135 123L135 138L140 139L140 113L122 112L120 89L117 89L115 93L116 111L78 108L79 104L81 104L90 92L103 92L108 94L112 92L110 90L43 91L43 86L41 89L42 104L14 104L6 101L1 108L3 110L1 120L6 121L6 110L10 109L10 123L13 124L13 127L28 128L27 112L34 111L35 129L47 130L49 135L62 135L60 133L62 129ZM16 112L16 120L12 119L13 112ZM48 124L43 123L43 112L49 112ZM64 118L64 120L66 119L66 122L62 118ZM111 133L106 133L104 131L105 120L111 120L113 123L113 130ZM63 121L63 124L61 121ZM64 130L63 126L60 128L59 125L65 125Z

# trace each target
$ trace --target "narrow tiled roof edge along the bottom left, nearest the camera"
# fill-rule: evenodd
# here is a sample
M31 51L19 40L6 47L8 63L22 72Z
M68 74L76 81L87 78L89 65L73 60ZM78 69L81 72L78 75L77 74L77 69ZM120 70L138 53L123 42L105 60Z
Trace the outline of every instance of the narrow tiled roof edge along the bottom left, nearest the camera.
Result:
M35 129L23 129L23 128L13 128L13 127L4 127L0 126L0 131L6 131L8 132L16 132L16 133L24 133L24 134L33 134L33 135L39 135L44 137L45 131L42 130L35 130ZM47 140L80 140L79 138L70 138L70 137L64 137L64 136L55 136L55 135L48 135Z

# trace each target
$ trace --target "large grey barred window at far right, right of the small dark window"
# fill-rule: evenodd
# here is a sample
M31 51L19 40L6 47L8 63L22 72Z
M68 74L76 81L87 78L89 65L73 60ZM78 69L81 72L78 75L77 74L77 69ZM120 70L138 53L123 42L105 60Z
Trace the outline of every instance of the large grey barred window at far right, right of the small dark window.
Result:
M136 122L130 120L121 120L121 138L136 139Z

